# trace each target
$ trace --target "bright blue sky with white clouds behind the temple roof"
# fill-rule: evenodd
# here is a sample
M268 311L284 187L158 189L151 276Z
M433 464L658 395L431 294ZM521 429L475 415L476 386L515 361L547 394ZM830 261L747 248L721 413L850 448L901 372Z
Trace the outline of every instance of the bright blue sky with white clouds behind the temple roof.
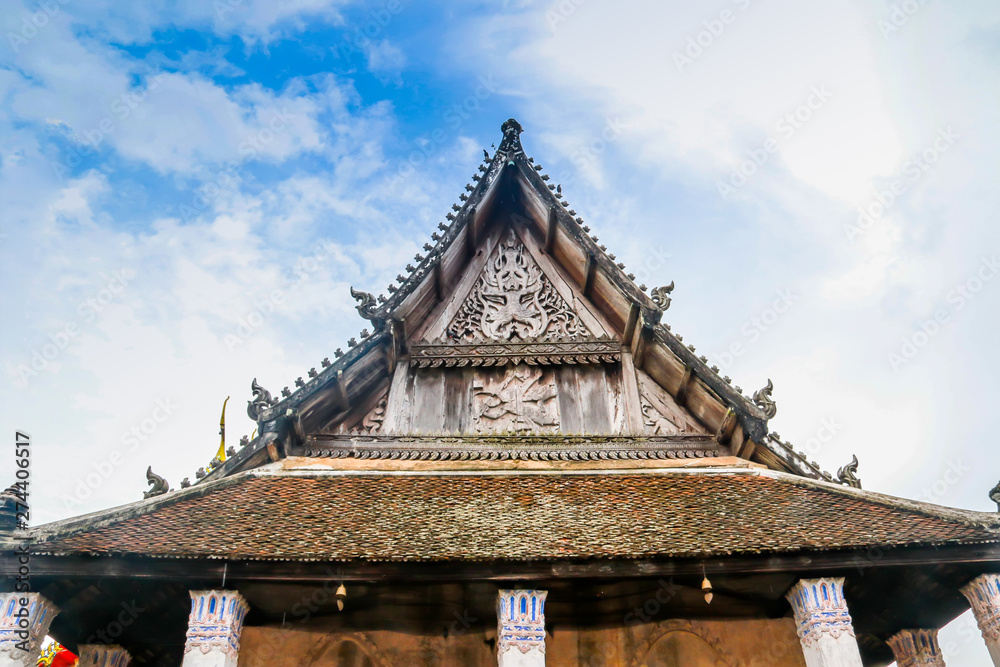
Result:
M192 475L226 396L249 433L250 380L357 334L349 286L384 291L510 116L601 242L676 282L674 330L735 384L774 380L783 437L831 470L857 454L866 488L994 509L996 3L0 19L0 422L36 442L37 521L139 498L150 464Z

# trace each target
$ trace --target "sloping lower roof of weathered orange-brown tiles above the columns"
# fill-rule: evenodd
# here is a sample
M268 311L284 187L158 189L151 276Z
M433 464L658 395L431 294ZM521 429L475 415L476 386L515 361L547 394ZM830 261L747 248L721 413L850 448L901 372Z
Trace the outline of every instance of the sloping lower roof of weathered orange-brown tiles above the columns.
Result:
M1000 542L992 516L757 471L252 471L42 526L34 551L332 561L686 557Z

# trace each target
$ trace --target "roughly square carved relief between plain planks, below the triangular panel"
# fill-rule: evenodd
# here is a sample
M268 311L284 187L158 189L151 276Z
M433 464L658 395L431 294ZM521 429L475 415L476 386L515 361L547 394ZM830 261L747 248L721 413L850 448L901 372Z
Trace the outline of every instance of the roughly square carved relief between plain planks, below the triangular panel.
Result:
M556 433L559 402L555 377L533 366L477 372L473 381L477 433Z

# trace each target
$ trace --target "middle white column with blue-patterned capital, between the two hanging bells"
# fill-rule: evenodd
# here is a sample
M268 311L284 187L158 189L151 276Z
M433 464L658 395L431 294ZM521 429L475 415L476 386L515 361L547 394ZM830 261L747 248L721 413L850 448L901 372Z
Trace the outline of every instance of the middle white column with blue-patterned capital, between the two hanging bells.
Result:
M545 667L545 596L548 591L497 593L497 665Z

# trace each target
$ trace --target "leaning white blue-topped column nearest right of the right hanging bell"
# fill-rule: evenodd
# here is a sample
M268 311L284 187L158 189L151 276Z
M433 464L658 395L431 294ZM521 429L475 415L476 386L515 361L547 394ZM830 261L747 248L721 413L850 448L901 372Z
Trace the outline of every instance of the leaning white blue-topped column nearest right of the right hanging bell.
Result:
M862 667L842 578L802 579L785 597L795 612L806 667Z

